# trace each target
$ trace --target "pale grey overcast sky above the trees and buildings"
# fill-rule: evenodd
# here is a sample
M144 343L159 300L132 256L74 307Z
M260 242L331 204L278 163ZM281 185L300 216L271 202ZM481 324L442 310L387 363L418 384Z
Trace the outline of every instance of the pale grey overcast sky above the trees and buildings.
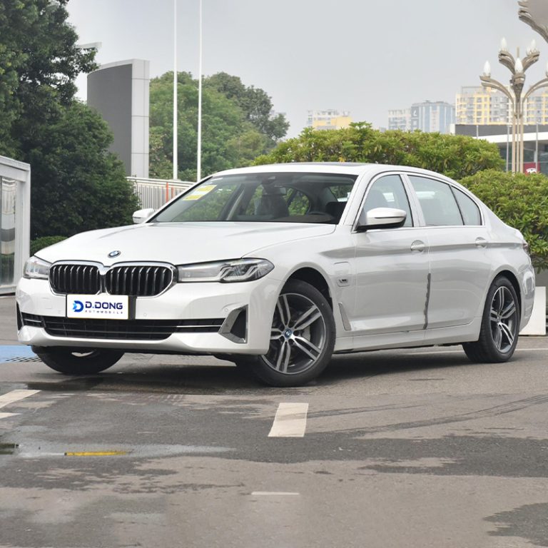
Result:
M198 74L198 1L178 1L178 70ZM548 44L517 17L517 0L203 0L203 73L224 71L263 88L300 133L308 109L349 110L387 126L390 108L455 102L497 63L500 39L520 53L537 40L542 78ZM100 64L151 61L151 77L173 67L173 0L71 0L81 43L102 42ZM78 79L81 98L86 80Z

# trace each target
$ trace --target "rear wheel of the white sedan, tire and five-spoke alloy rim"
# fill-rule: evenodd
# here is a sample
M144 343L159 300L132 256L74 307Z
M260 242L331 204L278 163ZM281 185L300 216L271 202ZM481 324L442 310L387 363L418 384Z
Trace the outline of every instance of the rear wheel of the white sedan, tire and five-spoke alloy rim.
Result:
M514 354L519 333L519 300L508 278L499 276L487 293L480 338L462 347L472 362L506 362Z

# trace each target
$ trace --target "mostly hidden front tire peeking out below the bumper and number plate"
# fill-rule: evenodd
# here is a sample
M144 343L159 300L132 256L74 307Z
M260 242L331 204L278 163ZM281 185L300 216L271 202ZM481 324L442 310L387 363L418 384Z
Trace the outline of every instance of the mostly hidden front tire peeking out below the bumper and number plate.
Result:
M33 352L51 369L64 375L94 375L112 367L124 352L97 349L76 352L64 347L32 347Z

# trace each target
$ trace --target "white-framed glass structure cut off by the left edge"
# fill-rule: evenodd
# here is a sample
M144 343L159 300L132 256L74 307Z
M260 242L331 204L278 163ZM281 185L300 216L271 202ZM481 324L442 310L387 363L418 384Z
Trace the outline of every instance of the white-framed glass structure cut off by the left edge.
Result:
M31 167L0 156L0 294L14 293L29 258Z

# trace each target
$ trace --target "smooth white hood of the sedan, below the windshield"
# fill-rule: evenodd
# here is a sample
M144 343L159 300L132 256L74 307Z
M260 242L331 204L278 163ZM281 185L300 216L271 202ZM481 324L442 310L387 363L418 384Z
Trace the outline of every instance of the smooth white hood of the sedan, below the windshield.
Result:
M333 233L335 225L310 223L145 223L72 236L36 253L56 260L89 260L103 265L161 261L174 265L235 259L261 248ZM108 253L119 251L116 258Z

